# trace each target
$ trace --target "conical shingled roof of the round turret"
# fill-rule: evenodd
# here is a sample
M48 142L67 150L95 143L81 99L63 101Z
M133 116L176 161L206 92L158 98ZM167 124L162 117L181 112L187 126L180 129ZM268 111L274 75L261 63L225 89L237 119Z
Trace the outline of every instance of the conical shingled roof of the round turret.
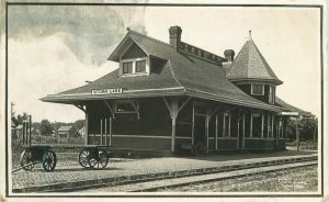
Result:
M274 82L275 85L283 83L271 69L251 38L245 43L236 59L228 68L227 78L231 81L264 80Z

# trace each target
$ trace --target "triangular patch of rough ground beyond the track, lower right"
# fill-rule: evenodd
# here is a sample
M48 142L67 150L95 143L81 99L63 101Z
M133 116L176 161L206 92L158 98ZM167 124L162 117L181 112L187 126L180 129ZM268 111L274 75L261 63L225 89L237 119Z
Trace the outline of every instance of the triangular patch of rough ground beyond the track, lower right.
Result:
M215 182L162 189L163 192L316 192L317 166L260 173Z

